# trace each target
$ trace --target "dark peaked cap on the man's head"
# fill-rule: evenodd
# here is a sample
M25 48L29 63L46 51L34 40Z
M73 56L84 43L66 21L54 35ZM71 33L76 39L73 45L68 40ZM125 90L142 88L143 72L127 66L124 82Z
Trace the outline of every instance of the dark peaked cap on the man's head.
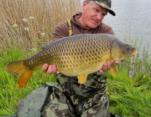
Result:
M99 6L107 9L107 11L112 14L113 16L115 16L115 12L111 9L111 0L91 0L96 2L96 4L98 4Z

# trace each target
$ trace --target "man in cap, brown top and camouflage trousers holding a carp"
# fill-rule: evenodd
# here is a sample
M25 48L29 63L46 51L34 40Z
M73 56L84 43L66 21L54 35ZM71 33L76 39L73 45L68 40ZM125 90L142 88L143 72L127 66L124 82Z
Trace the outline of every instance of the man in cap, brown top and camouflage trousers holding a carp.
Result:
M80 33L114 34L111 27L103 23L107 13L115 16L110 0L85 0L82 13L75 14L70 21L59 24L54 38ZM43 65L47 73L57 74L57 86L52 87L49 103L43 109L43 116L48 117L110 117L106 95L106 77L102 73L110 68L106 63L98 72L89 74L88 81L79 85L76 78L66 78L59 74L56 65Z

